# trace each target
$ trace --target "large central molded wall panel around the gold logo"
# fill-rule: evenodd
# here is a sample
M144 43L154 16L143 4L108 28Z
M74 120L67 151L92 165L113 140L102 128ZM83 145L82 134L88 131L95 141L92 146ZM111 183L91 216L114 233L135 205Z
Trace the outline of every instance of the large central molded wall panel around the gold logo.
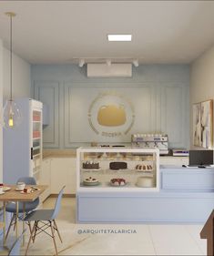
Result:
M155 130L152 124L152 87L111 84L86 87L65 84L65 146L70 148L92 141L130 143L131 133ZM102 109L124 112L126 122L107 127L98 124ZM105 110L104 110L105 111ZM107 110L108 111L108 110Z

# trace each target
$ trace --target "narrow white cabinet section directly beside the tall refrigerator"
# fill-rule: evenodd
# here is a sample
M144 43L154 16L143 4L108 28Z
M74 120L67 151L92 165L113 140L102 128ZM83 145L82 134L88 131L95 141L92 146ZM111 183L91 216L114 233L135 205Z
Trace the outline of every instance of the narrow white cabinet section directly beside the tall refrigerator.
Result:
M51 194L51 159L44 159L42 161L42 171L40 176L40 184L47 185L47 189L42 193L40 200L43 202Z

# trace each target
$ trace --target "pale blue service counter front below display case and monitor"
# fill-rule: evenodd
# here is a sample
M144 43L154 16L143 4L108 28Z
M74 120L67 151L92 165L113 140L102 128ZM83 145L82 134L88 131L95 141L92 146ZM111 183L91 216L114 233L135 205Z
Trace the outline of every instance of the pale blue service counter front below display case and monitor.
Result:
M83 192L76 195L82 223L201 223L214 209L214 169L160 167L158 192Z

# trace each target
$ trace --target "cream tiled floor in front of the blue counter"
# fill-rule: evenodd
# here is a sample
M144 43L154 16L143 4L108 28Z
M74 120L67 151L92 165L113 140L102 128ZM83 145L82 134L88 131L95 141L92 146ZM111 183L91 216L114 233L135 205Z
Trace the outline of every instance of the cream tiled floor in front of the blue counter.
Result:
M44 207L51 208L54 203L55 199L46 200ZM206 255L206 241L199 239L201 225L76 224L75 213L75 199L63 199L57 218L64 241L61 244L57 240L59 255ZM79 230L99 233L78 234ZM104 233L104 230L133 233ZM51 238L44 234L37 237L28 251L29 255L54 253Z

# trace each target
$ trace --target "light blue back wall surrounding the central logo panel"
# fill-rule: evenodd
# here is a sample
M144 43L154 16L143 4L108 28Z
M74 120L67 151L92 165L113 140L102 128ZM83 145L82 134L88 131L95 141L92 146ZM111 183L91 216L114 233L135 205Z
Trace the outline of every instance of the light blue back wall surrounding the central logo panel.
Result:
M95 86L151 88L151 127L170 135L170 147L189 147L189 65L141 65L133 67L131 78L87 78L86 67L76 65L33 65L31 70L32 97L45 102L50 111L45 148L79 146L67 140L72 127L68 128L70 122L65 118L69 108L66 91L86 87L87 97L87 90Z

